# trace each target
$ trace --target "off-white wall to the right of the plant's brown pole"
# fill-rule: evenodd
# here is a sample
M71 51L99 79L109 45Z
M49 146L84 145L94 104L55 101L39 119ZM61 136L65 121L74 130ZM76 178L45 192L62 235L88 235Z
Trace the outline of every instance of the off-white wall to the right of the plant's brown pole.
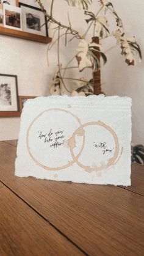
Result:
M135 35L144 58L144 1L113 0L123 20L126 33ZM136 67L124 64L117 49L108 54L102 69L103 90L107 95L132 98L132 142L144 145L144 60Z

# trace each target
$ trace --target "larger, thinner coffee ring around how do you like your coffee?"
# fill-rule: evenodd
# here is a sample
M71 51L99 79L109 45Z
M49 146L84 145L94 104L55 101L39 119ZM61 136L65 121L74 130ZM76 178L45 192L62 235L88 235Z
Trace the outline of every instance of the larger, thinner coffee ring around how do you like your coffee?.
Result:
M62 169L65 169L65 168L67 168L67 167L69 167L69 166L72 166L72 165L74 164L74 162L75 162L74 159L73 159L72 161L70 161L68 164L65 164L65 165L62 166L62 167L49 167L49 166L44 166L43 164L41 164L40 162L38 162L37 159L34 158L34 156L33 156L32 153L31 153L30 147L29 147L29 132L30 132L30 130L31 130L32 125L34 124L34 122L35 122L41 115L43 115L43 113L49 112L49 111L62 111L62 112L66 112L66 113L72 115L72 116L74 117L74 119L76 119L77 122L79 123L79 125L81 126L81 122L80 122L80 120L76 117L76 115L72 114L71 112L69 112L69 111L67 111L67 110L64 110L64 109L57 109L57 108L56 108L56 109L54 108L54 109L45 110L45 111L41 112L39 115L37 115L37 117L35 117L35 119L32 121L31 125L29 126L29 128L28 128L28 130L27 130L27 136L26 136L27 151L29 152L29 155L30 155L31 158L34 160L34 162L35 162L36 164L38 164L38 166L43 167L43 168L46 169L46 170L62 170ZM76 158L79 158L79 156L80 156L81 153L82 153L82 148L84 147L84 143L85 143L85 137L84 137L84 135L83 135L83 138L84 138L84 139L83 139L83 142L82 142L81 150L80 150L79 153L77 154Z

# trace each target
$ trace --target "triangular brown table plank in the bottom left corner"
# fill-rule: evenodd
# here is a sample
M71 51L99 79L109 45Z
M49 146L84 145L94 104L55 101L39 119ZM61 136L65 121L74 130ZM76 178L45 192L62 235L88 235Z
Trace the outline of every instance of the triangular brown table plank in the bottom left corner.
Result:
M0 255L84 255L0 183Z

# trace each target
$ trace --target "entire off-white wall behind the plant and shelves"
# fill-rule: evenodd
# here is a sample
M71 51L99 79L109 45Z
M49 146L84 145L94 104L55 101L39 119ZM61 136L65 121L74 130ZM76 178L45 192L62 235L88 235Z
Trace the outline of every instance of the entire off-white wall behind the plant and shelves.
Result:
M21 0L22 1L22 0ZM27 4L37 5L34 0L24 1ZM43 0L45 6L49 7L49 2ZM94 2L94 1L93 1ZM135 35L143 52L144 42L144 22L143 11L144 1L142 0L111 0L115 9L118 11L126 32ZM95 4L92 10L96 10ZM54 1L54 16L65 24L68 24L67 2L62 0ZM64 14L63 14L64 13ZM71 24L74 28L85 31L86 24L83 20L82 11L73 8L70 11ZM52 35L50 29L49 34ZM107 42L110 45L110 42ZM73 40L65 48L63 41L60 44L61 59L65 64L68 62L71 53L75 53L77 41ZM57 63L56 47L49 54L49 67L46 61L47 46L41 43L19 40L0 35L0 73L18 75L19 95L48 95L48 87L51 85L52 75ZM73 55L72 55L73 56ZM86 73L90 78L90 72ZM81 75L82 76L82 75ZM143 62L137 67L127 67L124 59L120 56L120 51L113 49L108 54L108 62L102 68L103 91L107 95L120 95L132 97L132 142L134 144L144 144L144 73ZM71 83L69 83L69 86ZM0 119L0 140L18 138L20 128L19 118Z

